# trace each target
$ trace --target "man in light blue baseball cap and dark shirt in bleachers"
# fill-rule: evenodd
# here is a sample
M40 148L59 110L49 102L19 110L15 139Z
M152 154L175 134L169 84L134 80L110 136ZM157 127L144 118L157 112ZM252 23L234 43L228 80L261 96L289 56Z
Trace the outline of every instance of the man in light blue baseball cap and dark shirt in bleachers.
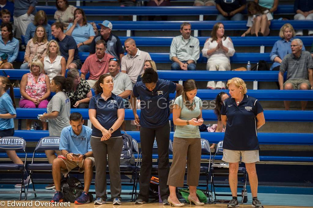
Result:
M99 23L101 26L100 35L97 35L89 45L90 54L95 53L95 45L98 40L104 40L106 43L105 52L120 60L124 56L124 49L119 37L112 33L112 23L108 20Z

